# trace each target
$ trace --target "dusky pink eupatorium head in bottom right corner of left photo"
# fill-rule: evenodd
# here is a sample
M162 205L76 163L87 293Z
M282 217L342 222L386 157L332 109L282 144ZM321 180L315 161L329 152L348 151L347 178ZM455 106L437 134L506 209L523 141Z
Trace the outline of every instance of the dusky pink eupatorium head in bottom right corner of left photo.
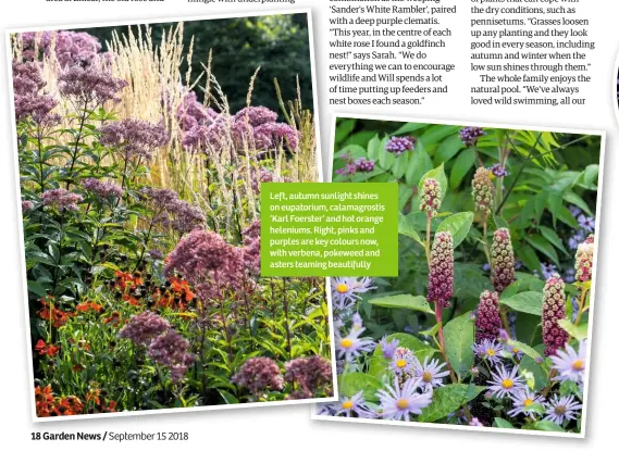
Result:
M333 381L331 362L320 355L299 358L285 364L287 383L298 384L304 398L311 398L313 393Z

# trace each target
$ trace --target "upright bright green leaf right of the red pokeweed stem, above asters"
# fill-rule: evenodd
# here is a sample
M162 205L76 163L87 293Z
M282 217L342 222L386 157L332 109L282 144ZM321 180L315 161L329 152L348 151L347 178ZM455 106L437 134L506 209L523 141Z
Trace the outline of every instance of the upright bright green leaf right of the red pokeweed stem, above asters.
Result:
M443 328L445 349L451 367L458 374L465 374L473 365L474 327L471 312L451 320Z

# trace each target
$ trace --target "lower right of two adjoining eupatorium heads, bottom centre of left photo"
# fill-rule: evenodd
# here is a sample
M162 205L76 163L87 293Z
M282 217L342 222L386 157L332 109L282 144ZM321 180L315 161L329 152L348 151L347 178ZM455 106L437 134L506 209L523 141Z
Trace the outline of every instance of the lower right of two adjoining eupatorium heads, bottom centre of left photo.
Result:
M189 341L174 329L169 329L152 339L148 347L148 355L153 362L166 366L173 383L179 383L187 368L196 361L189 352Z

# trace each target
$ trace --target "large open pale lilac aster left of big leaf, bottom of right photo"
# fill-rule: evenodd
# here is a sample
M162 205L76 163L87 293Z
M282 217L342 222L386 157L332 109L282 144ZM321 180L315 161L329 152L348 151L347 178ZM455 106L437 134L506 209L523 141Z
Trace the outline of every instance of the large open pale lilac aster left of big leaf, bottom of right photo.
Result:
M381 401L381 411L385 419L410 421L410 414L419 415L421 410L432 402L432 391L420 393L419 380L408 379L401 387L394 380L394 386L376 391Z

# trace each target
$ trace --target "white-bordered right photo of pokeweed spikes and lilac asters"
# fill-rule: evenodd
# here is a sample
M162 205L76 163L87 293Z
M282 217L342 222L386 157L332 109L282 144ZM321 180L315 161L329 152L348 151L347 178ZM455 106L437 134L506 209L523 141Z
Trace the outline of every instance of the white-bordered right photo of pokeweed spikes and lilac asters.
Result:
M399 276L332 280L319 413L579 433L599 137L341 118L335 146L333 181L398 183Z

